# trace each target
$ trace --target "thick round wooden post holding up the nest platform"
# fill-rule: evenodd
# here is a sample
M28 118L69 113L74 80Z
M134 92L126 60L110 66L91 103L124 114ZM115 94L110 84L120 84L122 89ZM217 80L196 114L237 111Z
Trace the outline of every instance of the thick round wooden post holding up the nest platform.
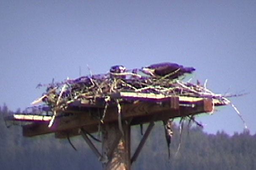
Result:
M130 170L130 125L123 123L123 130L118 123L102 125L103 170Z

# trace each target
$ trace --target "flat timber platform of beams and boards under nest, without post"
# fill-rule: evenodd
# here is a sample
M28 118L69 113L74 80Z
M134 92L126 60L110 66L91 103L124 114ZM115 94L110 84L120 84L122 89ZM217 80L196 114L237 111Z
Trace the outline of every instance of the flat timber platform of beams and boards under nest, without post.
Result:
M112 96L119 98L117 93ZM141 96L140 96L141 98ZM148 99L149 97L147 97ZM161 99L161 98L160 98ZM183 117L205 112L212 112L213 105L224 105L212 98L193 98L186 96L165 97L157 101L135 101L133 103L121 104L122 121L130 120L130 125L138 125L150 122L155 116L154 121L167 120L168 118ZM66 138L80 135L83 128L88 133L98 130L100 123L99 115L104 111L103 105L92 105L83 101L72 104L59 114L54 120L51 128L48 127L50 116L38 115L14 115L8 120L31 121L29 125L24 125L23 135L32 137L47 133L55 133L56 138ZM118 122L118 108L116 105L108 106L103 123Z

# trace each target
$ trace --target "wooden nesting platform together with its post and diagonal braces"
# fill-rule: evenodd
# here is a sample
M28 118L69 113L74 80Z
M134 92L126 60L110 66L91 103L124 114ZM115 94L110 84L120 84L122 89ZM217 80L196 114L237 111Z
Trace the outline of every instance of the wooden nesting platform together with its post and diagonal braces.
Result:
M199 98L188 96L164 96L162 94L119 92L111 96L112 100L122 99L120 108L116 103L107 109L103 102L89 104L88 100L73 102L65 111L57 113L51 128L48 127L51 116L14 114L5 120L25 121L30 124L22 126L23 135L32 137L55 133L56 138L70 138L82 135L97 158L102 162L103 170L130 170L135 162L154 122L169 118L192 116L195 114L213 112L215 106L226 105L225 101L216 98ZM105 117L101 122L105 111ZM119 115L121 114L121 124ZM149 123L143 138L131 154L131 126ZM101 126L102 151L94 146L88 138L89 133L95 133ZM121 132L121 129L123 132Z

